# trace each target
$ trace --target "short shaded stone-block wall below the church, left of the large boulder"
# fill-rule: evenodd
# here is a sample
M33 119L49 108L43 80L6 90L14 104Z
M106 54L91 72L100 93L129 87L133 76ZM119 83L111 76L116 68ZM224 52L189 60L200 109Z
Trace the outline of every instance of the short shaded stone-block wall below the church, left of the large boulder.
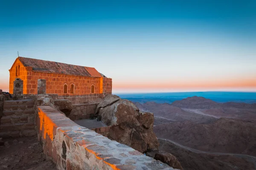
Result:
M87 103L72 105L72 111L68 116L71 120L89 119L94 114L99 103Z

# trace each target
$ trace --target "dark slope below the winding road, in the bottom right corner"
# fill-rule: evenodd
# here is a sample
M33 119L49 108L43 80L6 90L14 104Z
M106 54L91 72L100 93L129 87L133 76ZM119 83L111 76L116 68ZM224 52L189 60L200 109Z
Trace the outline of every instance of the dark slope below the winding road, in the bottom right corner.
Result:
M255 170L253 161L230 155L194 153L171 142L159 139L160 150L172 153L183 170Z

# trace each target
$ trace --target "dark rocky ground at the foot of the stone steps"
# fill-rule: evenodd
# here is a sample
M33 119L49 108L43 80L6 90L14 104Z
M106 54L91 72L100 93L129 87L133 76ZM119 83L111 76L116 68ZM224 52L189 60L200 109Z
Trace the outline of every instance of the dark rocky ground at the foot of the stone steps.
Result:
M3 139L0 145L0 170L57 170L36 137Z

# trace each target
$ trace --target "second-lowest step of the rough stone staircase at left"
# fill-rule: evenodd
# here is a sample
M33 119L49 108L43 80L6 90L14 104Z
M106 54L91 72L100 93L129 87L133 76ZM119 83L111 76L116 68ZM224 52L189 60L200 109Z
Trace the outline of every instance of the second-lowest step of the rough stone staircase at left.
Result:
M35 129L34 122L27 123L12 123L0 125L0 132L9 132L9 131L23 131L28 129Z

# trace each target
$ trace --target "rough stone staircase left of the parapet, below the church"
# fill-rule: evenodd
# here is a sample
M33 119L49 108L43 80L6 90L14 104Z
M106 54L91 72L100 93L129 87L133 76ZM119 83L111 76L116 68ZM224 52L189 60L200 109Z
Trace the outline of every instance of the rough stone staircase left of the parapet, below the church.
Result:
M33 99L7 100L0 119L0 138L34 136L35 102Z

